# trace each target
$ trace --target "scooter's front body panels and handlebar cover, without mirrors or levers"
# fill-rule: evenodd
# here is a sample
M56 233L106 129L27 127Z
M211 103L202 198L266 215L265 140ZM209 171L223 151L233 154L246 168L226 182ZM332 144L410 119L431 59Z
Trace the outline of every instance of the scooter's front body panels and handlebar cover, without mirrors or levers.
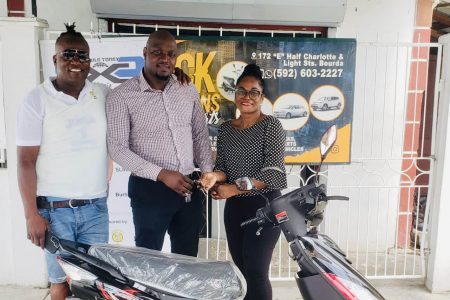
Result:
M309 230L311 224L318 225L323 218L326 201L317 201L320 197L326 199L324 186L310 184L270 203L273 223L278 222L290 243L292 258L300 267L299 278L296 280L303 297L346 299L336 289L336 286L345 286L344 289L347 288L350 294L353 292L360 297L366 297L364 299L384 299L368 280L351 266L344 251L330 237L318 234L316 230ZM266 214L270 215L271 212ZM330 275L324 274L336 276L335 281L330 279ZM325 294L327 296L324 296Z

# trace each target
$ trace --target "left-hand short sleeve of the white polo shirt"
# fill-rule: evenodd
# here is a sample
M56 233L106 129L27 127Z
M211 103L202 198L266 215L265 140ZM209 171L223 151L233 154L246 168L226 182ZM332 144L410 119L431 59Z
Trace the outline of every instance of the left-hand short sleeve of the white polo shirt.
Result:
M31 91L17 111L16 145L40 146L45 107L39 89Z

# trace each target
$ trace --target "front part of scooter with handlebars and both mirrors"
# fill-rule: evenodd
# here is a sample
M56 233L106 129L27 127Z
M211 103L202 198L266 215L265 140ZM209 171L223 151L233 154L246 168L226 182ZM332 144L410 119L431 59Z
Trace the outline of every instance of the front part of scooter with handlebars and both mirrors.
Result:
M296 273L300 293L305 300L375 300L383 296L352 266L344 251L328 236L320 234L317 226L323 220L328 201L349 200L343 196L327 196L326 187L319 184L318 173L337 139L337 127L331 126L320 141L321 161L313 183L269 200L255 189L248 177L236 180L243 191L254 191L266 199L266 206L257 210L253 219L241 226L256 223L259 235L265 226L280 226L287 242L289 255L297 262Z

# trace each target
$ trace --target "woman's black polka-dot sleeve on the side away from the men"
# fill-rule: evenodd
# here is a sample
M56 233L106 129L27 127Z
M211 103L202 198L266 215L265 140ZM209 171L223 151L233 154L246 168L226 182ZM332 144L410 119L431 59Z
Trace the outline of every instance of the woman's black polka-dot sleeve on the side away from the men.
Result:
M278 119L270 122L264 133L264 162L254 178L272 189L287 188L284 149L286 133Z

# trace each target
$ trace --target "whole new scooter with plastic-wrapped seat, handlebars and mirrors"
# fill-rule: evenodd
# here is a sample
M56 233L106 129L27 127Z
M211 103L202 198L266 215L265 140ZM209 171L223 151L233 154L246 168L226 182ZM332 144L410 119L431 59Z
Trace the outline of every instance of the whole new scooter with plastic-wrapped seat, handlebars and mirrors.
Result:
M330 127L320 143L321 164L336 141ZM319 170L320 170L319 166ZM241 226L257 223L259 234L266 226L280 226L298 263L296 282L305 300L366 300L383 296L351 266L345 253L317 226L330 200L326 188L315 182L271 202ZM240 190L258 193L250 178L235 182ZM264 194L260 195L265 198ZM58 262L67 275L73 296L68 299L177 300L243 299L246 283L229 261L208 261L183 255L117 245L85 245L59 239L48 232L45 248L60 251Z

